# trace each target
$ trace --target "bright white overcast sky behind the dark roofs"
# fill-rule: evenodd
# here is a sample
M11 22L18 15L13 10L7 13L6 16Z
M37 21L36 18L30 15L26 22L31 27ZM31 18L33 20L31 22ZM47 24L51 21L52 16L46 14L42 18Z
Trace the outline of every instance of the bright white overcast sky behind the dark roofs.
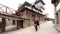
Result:
M13 8L15 10L18 9L19 4L23 4L25 1L33 4L36 0L0 0L0 4L6 5L10 8ZM45 10L44 13L49 13L49 18L54 18L54 6L51 4L51 0L43 0L46 4L44 6Z

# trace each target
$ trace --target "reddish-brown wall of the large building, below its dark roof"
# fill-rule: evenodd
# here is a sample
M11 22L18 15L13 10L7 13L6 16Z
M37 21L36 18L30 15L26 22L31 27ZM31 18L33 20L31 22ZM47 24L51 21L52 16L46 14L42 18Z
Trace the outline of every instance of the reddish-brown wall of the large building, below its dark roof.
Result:
M43 15L43 14L40 14L40 13L38 13L38 12L35 12L35 11L33 11L33 10L31 10L31 9L28 9L28 8L26 8L26 7L24 7L23 9L24 9L24 11L23 11L23 10L19 11L17 15L19 15L20 18L29 19L29 20L27 20L27 21L30 21L30 22L28 22L28 23L26 22L26 23L25 23L26 25L29 24L29 25L31 26L31 25L34 24L34 21L33 21L34 16L35 16L35 19L36 19L36 20L39 20L41 23L44 21L44 15ZM24 15L24 16L23 16L23 15ZM24 20L23 20L23 21L24 21ZM24 25L25 25L25 24L24 24Z

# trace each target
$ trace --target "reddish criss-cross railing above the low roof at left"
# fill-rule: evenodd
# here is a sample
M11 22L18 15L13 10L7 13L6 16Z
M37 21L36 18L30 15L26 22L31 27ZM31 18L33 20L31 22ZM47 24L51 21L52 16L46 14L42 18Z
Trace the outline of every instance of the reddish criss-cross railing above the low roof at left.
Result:
M5 5L2 5L0 4L0 13L3 13L3 14L13 14L15 13L16 10L10 8L10 7L7 7Z

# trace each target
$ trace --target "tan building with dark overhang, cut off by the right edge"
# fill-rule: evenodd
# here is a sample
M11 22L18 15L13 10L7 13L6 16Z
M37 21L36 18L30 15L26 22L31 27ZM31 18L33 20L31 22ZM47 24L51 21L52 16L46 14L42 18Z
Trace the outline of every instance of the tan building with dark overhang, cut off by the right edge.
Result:
M58 31L60 31L60 0L52 0L52 3L55 6L55 19L54 24Z

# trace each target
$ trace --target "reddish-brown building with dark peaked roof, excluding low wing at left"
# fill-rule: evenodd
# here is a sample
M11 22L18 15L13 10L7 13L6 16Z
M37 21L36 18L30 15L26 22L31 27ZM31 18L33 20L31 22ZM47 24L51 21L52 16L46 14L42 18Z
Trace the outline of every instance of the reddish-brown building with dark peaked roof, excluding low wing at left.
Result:
M26 20L26 22L23 23L25 27L34 24L34 21L32 21L34 17L36 20L39 20L41 23L44 21L44 17L45 17L45 15L42 14L41 10L36 10L35 8L32 9L32 4L28 2L25 2L21 7L18 8L16 15L19 16L20 18L30 19L30 20Z

